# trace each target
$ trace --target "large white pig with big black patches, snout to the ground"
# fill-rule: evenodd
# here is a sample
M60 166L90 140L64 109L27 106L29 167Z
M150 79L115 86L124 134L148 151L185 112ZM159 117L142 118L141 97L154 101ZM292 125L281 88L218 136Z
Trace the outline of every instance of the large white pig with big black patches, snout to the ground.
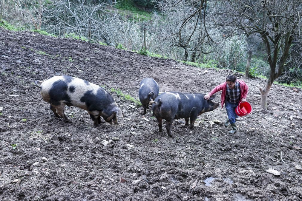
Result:
M96 84L70 76L54 76L35 83L55 116L66 122L71 123L64 114L65 105L87 110L95 126L101 123L101 117L110 124L117 124L117 117L123 117L110 94Z

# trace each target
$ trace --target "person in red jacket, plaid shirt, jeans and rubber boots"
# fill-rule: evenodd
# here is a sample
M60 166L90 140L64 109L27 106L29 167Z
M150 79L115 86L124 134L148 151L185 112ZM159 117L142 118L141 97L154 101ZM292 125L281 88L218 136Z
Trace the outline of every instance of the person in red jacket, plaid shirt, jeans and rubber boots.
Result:
M246 96L249 91L249 87L243 80L237 80L234 75L226 77L226 82L216 86L210 93L204 96L204 99L208 100L212 95L222 91L221 94L221 109L225 103L227 118L224 122L224 126L231 124L232 130L229 134L237 132L236 118L238 115L235 112L236 107L240 102L246 102Z

